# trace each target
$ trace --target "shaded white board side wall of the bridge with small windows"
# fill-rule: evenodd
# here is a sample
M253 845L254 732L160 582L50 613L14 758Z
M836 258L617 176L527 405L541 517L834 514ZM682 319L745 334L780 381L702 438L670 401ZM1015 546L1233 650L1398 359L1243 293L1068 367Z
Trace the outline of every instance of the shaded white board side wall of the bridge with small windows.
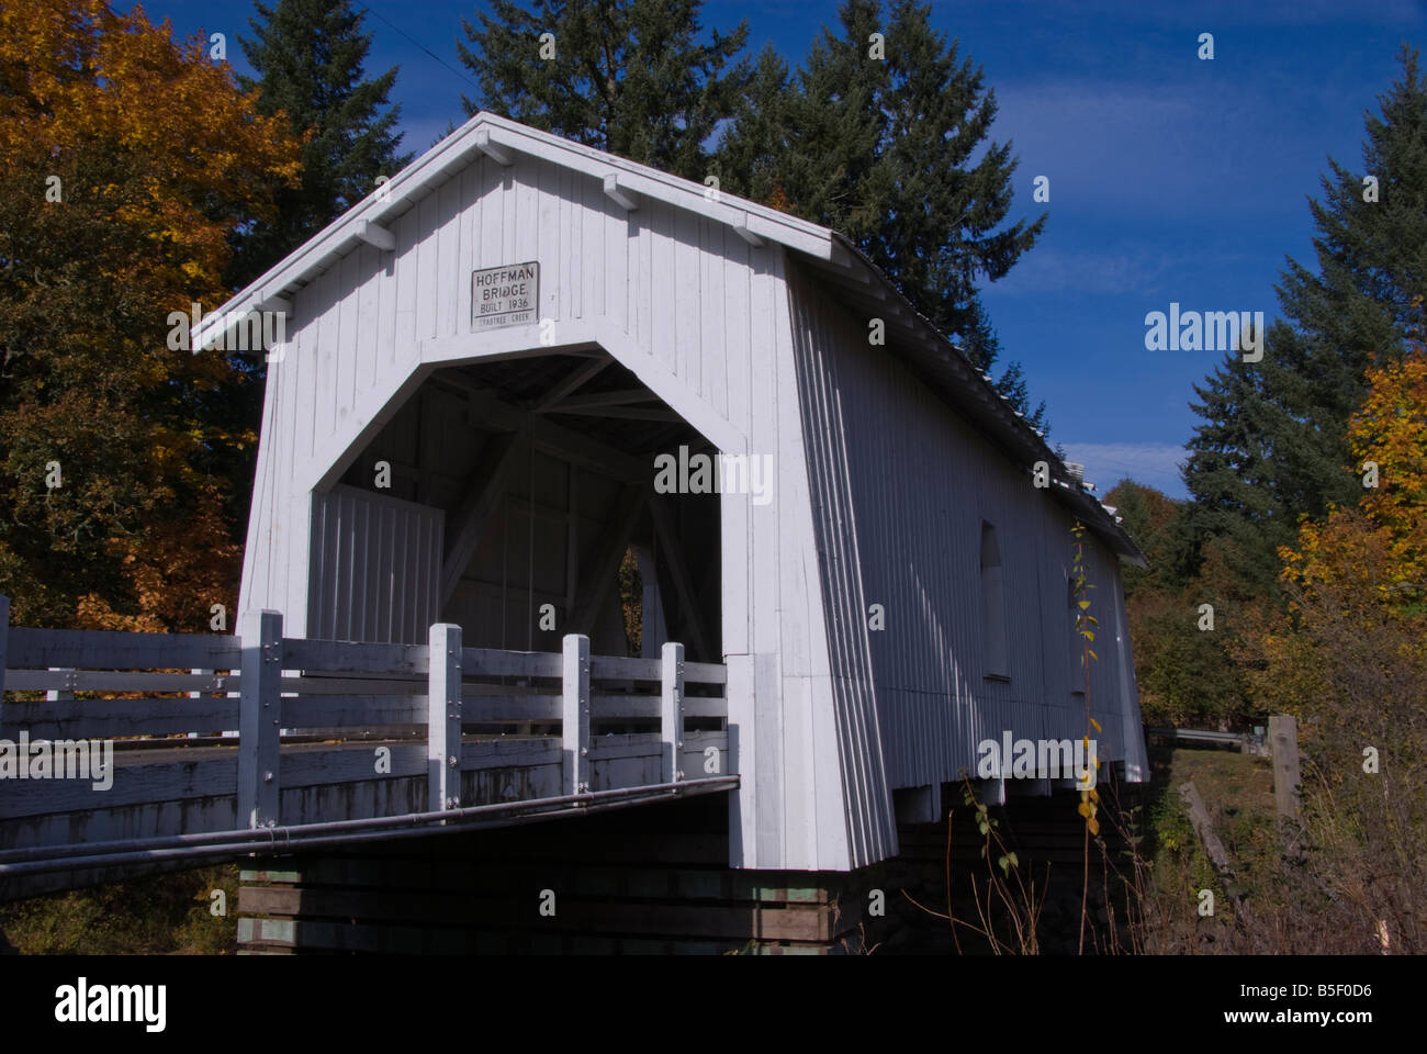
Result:
M832 631L845 683L875 700L890 787L955 781L975 773L976 744L1016 738L1079 738L1086 728L1079 667L1072 667L1066 576L1072 517L1029 473L1012 466L895 357L868 346L868 320L799 276L791 283L806 354L805 434L821 493L813 507L829 594L841 593ZM895 340L895 337L892 337ZM818 464L822 460L823 464ZM1007 680L986 677L980 606L982 520L1000 547ZM1092 613L1100 620L1092 663L1092 716L1102 758L1126 758L1126 730L1139 728L1114 557L1086 541ZM843 568L856 568L852 581ZM852 598L859 597L860 620ZM831 600L829 617L838 611ZM866 630L870 604L886 628ZM866 641L863 644L863 641ZM862 674L866 648L870 676ZM1127 681L1126 677L1130 680ZM1132 738L1132 737L1130 737ZM868 753L873 740L860 741ZM1137 753L1136 753L1137 751ZM1143 743L1129 747L1143 756Z

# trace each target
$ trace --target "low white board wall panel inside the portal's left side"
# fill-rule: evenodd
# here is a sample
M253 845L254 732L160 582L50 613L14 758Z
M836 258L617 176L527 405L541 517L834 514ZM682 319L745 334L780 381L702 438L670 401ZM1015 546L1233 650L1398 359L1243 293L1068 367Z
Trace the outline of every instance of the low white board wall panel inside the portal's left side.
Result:
M308 637L420 644L438 621L440 508L338 486L313 497Z

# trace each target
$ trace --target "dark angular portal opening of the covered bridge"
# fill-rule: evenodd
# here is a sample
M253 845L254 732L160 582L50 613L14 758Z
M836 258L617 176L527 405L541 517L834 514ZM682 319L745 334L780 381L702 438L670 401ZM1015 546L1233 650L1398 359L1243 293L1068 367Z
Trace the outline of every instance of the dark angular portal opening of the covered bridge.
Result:
M719 496L656 486L699 453L599 348L437 370L314 494L308 636L721 661Z

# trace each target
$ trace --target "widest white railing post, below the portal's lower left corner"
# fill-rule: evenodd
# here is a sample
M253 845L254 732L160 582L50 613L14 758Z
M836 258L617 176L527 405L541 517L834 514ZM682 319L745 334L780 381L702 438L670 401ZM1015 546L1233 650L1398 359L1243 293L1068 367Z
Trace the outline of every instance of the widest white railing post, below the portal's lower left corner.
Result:
M283 736L283 613L244 611L238 706L238 823L275 827Z

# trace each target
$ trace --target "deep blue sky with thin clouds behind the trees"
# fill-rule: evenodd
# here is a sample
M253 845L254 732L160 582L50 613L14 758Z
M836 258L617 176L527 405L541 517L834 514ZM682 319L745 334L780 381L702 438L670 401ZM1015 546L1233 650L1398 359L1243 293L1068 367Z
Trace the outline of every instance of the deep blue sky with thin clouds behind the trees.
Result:
M120 4L123 6L123 4ZM471 0L368 0L368 71L401 66L404 147L424 151L475 94L455 56ZM705 27L749 24L791 64L836 3L706 0ZM180 34L251 36L247 0L151 0ZM933 3L932 21L985 70L992 137L1020 159L1010 216L1046 233L983 293L1005 357L1025 363L1053 443L1103 494L1133 476L1183 497L1176 464L1197 417L1192 386L1217 351L1146 351L1144 316L1277 314L1284 257L1311 261L1307 197L1331 154L1360 170L1363 114L1396 79L1398 44L1427 43L1427 0ZM1197 57L1199 34L1214 59ZM427 51L434 53L428 54ZM1049 204L1032 200L1050 181Z

